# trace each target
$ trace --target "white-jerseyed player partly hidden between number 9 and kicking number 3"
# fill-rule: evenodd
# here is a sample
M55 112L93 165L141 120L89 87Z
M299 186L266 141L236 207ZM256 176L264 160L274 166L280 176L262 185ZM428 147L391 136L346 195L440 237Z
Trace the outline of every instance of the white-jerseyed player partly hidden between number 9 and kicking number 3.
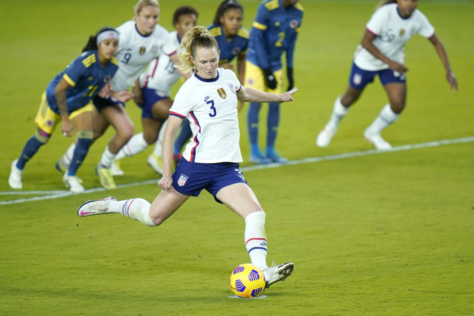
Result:
M197 16L197 10L189 5L180 6L174 11L173 26L176 31L169 34L169 41L173 43L175 49L181 44L184 34L196 26ZM157 142L158 133L160 129L163 129L163 122L168 118L169 108L172 105L171 86L179 78L180 73L168 55L164 53L152 61L147 71L140 75L139 84L135 85L134 93L136 96L140 96L140 98L136 98L136 102L143 110L143 132L133 135L128 143L120 149L112 164L113 175L124 174L119 167L118 161L120 159L141 153L149 145ZM163 173L161 140L158 140L155 150L148 156L147 162L157 173Z

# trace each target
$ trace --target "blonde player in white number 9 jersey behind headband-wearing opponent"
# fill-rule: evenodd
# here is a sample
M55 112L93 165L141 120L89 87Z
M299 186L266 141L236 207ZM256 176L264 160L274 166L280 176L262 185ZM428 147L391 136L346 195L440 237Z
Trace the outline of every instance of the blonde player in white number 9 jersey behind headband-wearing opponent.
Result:
M160 54L167 54L175 64L180 64L176 46L169 42L169 33L157 24L159 6L157 0L139 0L134 7L134 19L117 28L120 34L117 59L119 68L112 80L113 91L128 89L138 79L140 73ZM137 96L135 96L136 98ZM111 165L118 151L133 136L133 122L125 112L124 103L113 102L110 98L95 97L94 105L99 115L94 116L94 141L100 137L109 125L113 125L117 134L112 137L97 164L96 173L100 184L106 189L116 188L111 173ZM77 143L77 142L75 142ZM71 162L73 143L66 154L58 160L56 168L67 170Z

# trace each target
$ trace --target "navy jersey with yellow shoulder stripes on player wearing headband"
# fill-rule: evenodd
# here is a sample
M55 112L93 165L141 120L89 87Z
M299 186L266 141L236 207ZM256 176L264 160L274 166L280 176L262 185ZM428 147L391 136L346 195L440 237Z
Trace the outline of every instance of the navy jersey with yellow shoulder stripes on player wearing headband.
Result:
M118 70L118 61L115 57L102 67L97 50L88 50L80 54L65 70L56 75L46 88L48 105L59 114L54 88L64 78L71 86L66 89L66 105L72 113L84 107L99 93Z

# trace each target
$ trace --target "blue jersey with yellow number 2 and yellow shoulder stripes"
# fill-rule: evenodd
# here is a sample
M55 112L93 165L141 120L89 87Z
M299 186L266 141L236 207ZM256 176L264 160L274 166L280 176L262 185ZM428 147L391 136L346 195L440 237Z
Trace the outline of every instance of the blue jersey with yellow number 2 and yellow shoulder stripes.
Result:
M299 3L285 8L281 0L264 0L250 29L247 60L272 71L281 69L281 54L286 51L286 65L293 67L295 41L303 19Z

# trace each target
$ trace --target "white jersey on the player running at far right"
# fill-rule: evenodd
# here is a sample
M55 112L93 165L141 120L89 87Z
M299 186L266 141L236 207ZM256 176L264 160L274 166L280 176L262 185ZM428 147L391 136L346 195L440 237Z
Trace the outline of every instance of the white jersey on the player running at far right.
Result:
M390 3L377 9L366 30L377 36L372 43L385 56L399 63L405 61L403 46L415 34L430 38L435 34L435 28L427 17L415 9L408 18L402 18L398 13L398 4ZM389 65L376 58L365 48L359 45L354 53L354 62L357 67L375 71L389 68Z

